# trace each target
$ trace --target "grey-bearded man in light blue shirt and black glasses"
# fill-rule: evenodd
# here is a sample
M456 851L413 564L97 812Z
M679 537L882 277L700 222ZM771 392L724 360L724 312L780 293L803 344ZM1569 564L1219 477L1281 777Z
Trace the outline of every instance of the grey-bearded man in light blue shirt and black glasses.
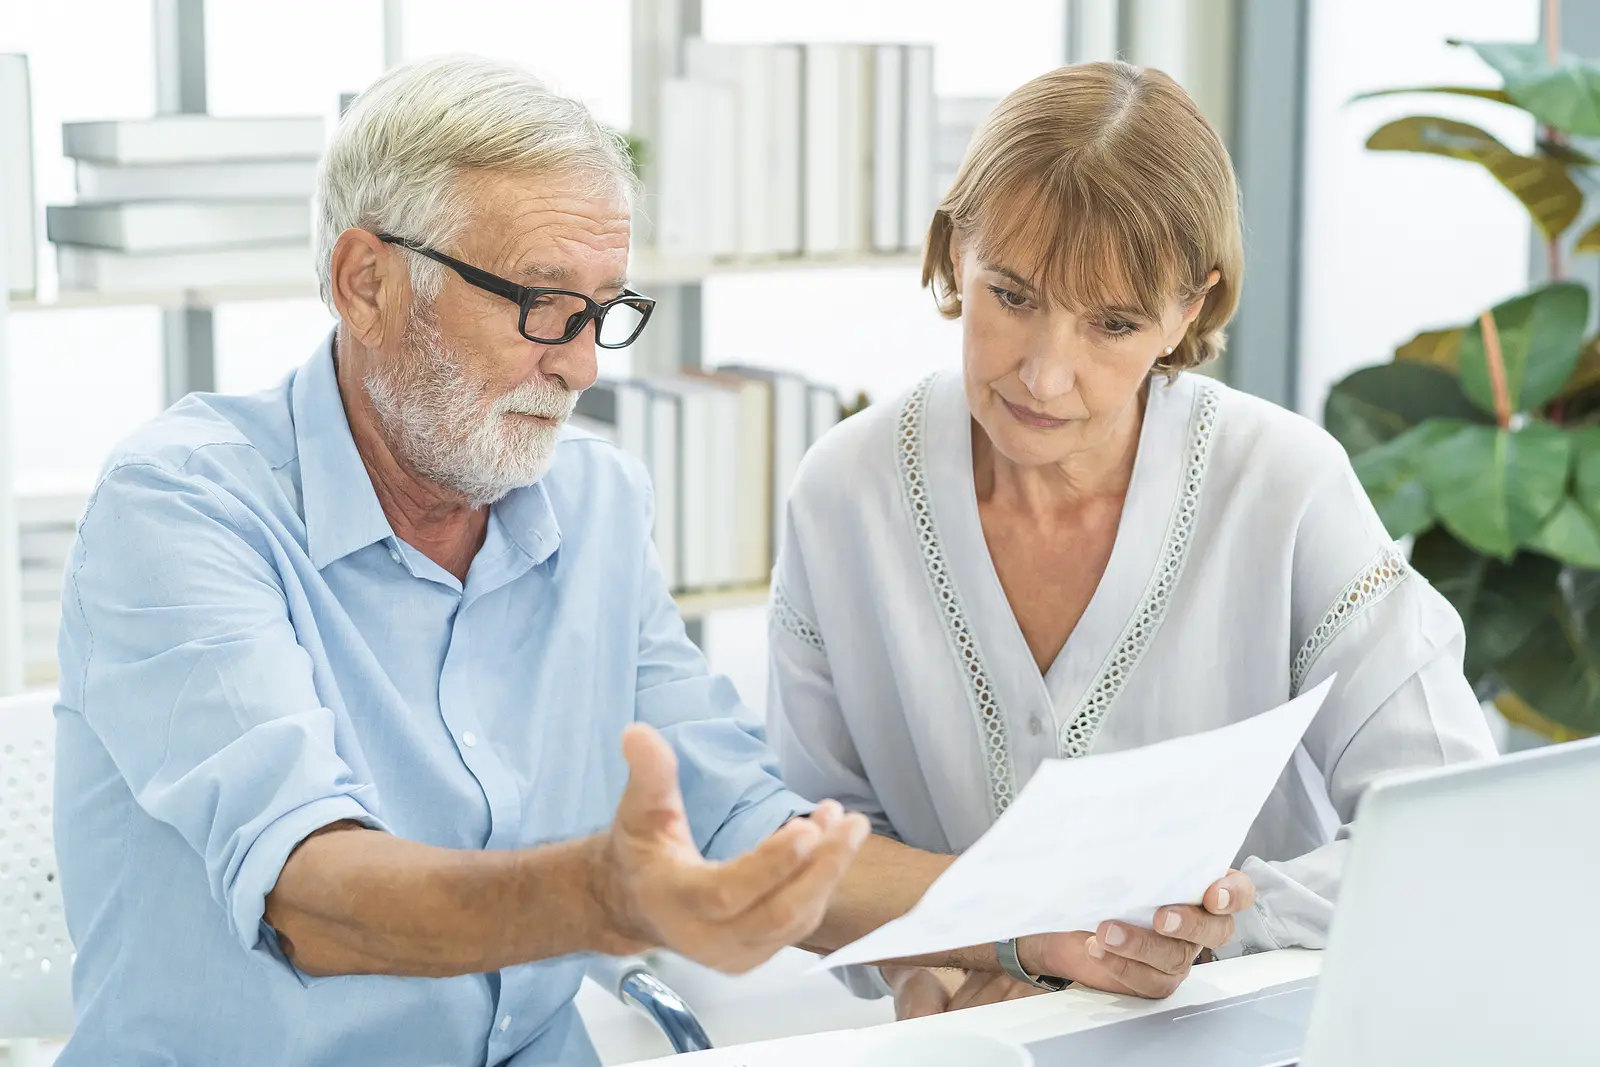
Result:
M584 953L742 971L949 864L774 779L642 469L563 430L650 317L632 190L517 69L390 72L318 181L333 336L110 458L61 633L62 1067L592 1064Z

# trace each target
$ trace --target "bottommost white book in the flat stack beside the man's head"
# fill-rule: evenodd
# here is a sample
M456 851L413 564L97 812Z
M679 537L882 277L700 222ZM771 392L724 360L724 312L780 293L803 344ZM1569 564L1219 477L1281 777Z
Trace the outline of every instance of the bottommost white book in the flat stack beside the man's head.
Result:
M309 245L227 248L219 251L120 253L56 245L62 290L142 293L238 285L310 285Z

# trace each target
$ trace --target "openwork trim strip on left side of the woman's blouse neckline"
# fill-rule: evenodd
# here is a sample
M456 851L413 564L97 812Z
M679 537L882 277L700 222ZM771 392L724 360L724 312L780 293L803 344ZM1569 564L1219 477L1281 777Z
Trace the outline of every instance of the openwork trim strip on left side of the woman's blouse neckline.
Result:
M934 603L938 603L944 619L944 633L950 641L950 651L955 653L966 678L968 707L973 709L973 720L984 750L984 768L989 773L989 806L998 817L1011 806L1016 795L1016 774L1011 766L1005 713L995 699L982 651L966 624L962 595L950 577L944 542L939 539L939 531L933 523L933 507L928 502L928 480L923 475L922 434L926 422L928 392L933 389L934 378L925 378L901 408L898 434L901 493L917 531L928 589L933 592Z

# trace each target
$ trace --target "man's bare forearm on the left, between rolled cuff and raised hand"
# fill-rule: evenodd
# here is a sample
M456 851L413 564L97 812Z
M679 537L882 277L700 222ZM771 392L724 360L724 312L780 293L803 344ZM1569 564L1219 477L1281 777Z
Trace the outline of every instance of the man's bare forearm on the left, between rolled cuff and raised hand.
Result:
M307 974L445 977L574 952L634 952L597 891L602 838L517 851L418 845L355 825L301 843L266 921Z

